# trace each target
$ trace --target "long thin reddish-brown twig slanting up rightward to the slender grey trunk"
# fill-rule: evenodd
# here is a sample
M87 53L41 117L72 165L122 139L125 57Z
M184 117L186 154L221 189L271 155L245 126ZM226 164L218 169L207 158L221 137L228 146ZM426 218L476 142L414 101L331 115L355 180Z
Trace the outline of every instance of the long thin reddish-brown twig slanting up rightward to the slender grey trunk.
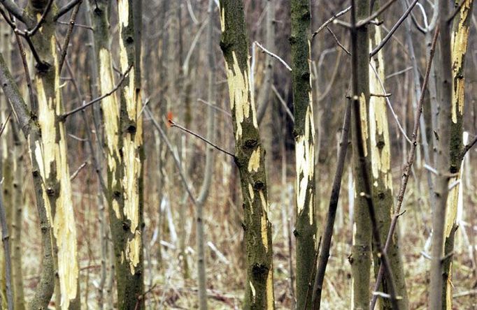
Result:
M404 200L404 193L406 192L409 175L411 175L411 168L414 162L415 149L418 146L419 121L420 121L420 116L422 114L422 104L424 103L427 83L429 82L429 73L431 72L432 60L434 59L434 52L436 50L436 42L437 42L438 34L439 34L439 27L436 27L434 38L432 39L432 46L431 46L431 50L429 54L429 61L427 62L424 82L422 82L421 96L418 102L418 109L415 111L414 128L413 128L413 135L412 135L413 142L411 143L411 149L409 149L408 163L406 164L406 167L404 167L404 173L401 179L401 186L399 187L399 194L397 196L396 210L394 212L395 215L392 217L392 220L390 223L390 230L389 232L387 232L387 238L386 238L386 243L384 245L383 253L386 253L387 249L389 249L392 235L394 234L394 230L396 230L397 220L399 219L399 213L401 212L401 206ZM376 277L376 285L374 286L374 291L377 291L379 289L380 283L383 279L383 274L384 274L384 267L383 265L380 265L378 276ZM377 296L373 295L373 298L371 300L371 305L369 307L370 310L374 309L374 307L376 306L376 301L377 301Z

